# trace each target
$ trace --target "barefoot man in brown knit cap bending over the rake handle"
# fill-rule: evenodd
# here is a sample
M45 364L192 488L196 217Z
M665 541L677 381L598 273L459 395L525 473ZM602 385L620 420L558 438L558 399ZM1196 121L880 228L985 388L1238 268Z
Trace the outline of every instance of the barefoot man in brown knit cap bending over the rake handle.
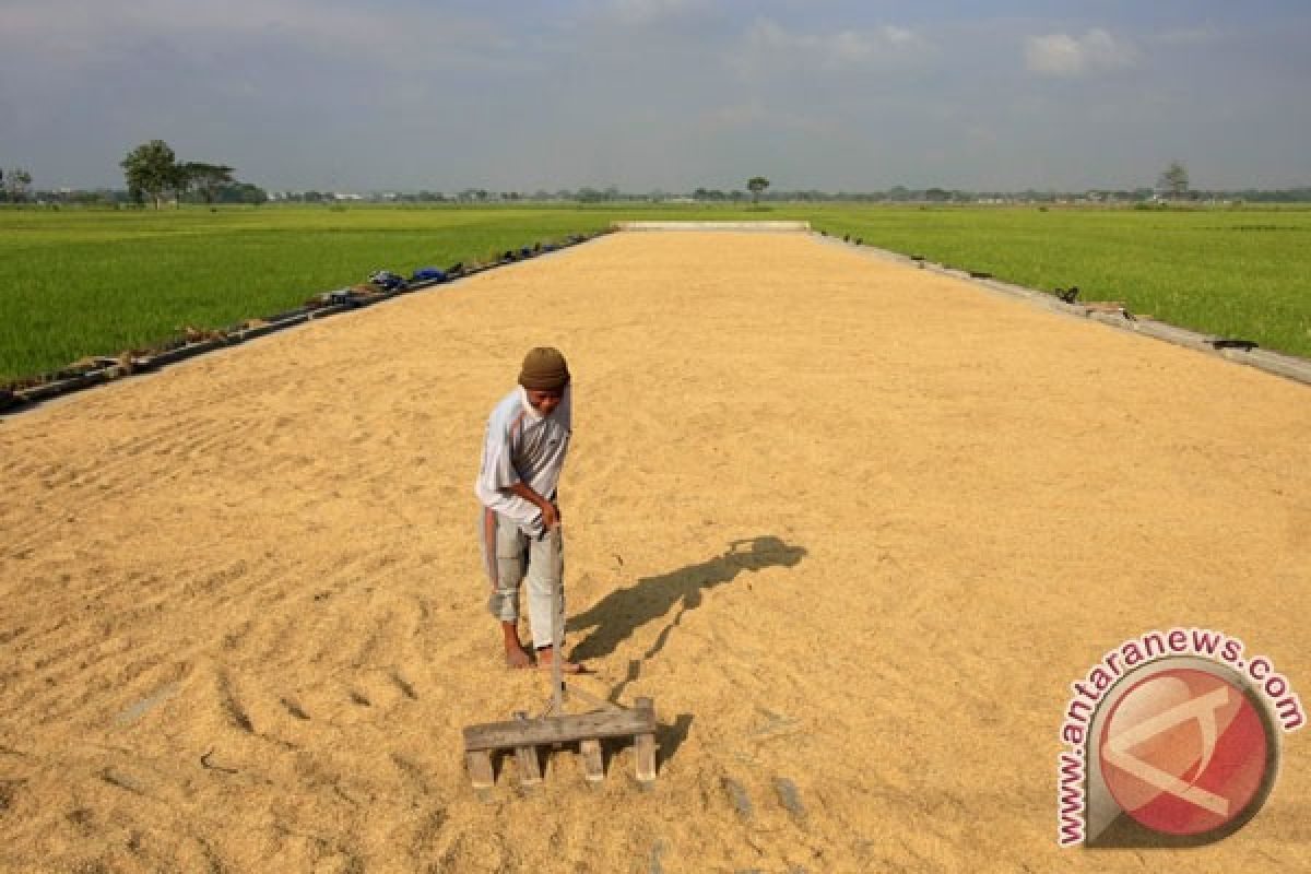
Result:
M492 410L482 439L475 491L482 503L479 528L492 588L488 609L501 622L505 660L513 668L532 666L519 642L519 586L524 579L538 664L552 664L555 588L564 586L556 486L573 427L569 383L569 366L560 350L531 350L523 359L519 385ZM560 667L570 674L583 670L572 662Z

